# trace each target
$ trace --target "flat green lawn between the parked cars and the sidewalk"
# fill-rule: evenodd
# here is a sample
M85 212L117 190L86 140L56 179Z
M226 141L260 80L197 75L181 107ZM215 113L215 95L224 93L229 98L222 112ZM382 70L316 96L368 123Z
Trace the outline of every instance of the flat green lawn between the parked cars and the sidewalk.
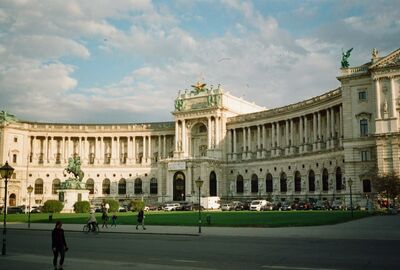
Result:
M117 224L136 224L137 213L117 213ZM197 226L198 212L146 212L146 225ZM354 219L373 214L367 211L355 211ZM53 223L61 220L67 224L84 224L89 214L54 214ZM207 216L211 224L207 224ZM268 212L202 212L202 223L205 226L221 227L288 227L288 226L316 226L346 222L351 220L350 212L346 211L268 211ZM3 220L3 219L2 219ZM97 221L101 223L101 214L97 214ZM2 221L3 222L3 221ZM7 222L28 222L27 214L10 214ZM31 222L47 223L48 214L31 214Z

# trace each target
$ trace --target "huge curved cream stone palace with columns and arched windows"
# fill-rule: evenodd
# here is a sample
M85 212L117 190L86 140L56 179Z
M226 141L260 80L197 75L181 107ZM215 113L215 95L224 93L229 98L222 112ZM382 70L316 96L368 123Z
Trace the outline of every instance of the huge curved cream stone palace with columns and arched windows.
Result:
M203 196L226 200L348 202L352 183L363 207L374 191L371 168L400 172L400 49L374 50L340 72L337 89L273 109L198 83L179 92L174 122L39 123L2 112L0 163L15 169L8 205L27 205L29 185L34 205L58 199L77 155L92 203L196 202L200 178Z

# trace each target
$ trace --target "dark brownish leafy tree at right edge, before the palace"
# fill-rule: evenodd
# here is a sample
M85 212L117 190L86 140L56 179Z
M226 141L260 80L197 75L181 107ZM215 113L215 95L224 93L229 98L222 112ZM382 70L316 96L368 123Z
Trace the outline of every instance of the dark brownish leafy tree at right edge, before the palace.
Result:
M379 194L392 200L393 206L395 206L395 199L400 195L400 177L398 174L394 171L375 173L373 187Z

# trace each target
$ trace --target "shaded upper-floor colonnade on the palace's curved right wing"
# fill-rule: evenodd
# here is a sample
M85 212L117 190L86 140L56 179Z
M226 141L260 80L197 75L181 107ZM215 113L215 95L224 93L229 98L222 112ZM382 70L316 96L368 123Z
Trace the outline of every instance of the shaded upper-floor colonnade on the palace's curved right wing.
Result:
M232 126L234 125L233 123ZM342 105L284 120L266 120L265 123L253 123L245 127L228 127L227 132L227 154L231 161L342 147Z

